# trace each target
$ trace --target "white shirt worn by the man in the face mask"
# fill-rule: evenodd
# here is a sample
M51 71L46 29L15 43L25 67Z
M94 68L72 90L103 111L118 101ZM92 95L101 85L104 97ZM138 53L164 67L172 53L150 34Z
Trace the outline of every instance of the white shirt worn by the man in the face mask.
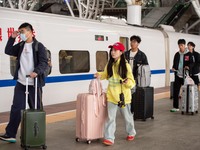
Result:
M25 43L20 57L20 68L18 71L18 82L26 85L26 75L30 75L34 70L32 43ZM34 85L34 80L29 79L29 85Z

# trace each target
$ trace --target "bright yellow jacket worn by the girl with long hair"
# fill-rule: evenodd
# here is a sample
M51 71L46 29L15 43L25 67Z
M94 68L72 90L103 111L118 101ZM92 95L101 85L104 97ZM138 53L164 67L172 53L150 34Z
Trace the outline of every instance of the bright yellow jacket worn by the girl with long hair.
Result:
M98 72L98 74L101 75L101 80L107 79L109 81L108 88L107 88L107 100L109 102L112 102L114 104L118 104L120 101L119 95L122 92L124 93L124 99L125 99L125 104L130 104L131 103L131 89L135 86L135 80L133 78L131 66L129 63L126 63L127 67L127 83L120 84L120 80L123 81L123 79L119 76L118 74L118 67L119 67L119 62L120 59L117 60L117 62L113 63L112 70L113 70L113 76L108 78L108 73L107 73L107 65L104 69L103 72Z

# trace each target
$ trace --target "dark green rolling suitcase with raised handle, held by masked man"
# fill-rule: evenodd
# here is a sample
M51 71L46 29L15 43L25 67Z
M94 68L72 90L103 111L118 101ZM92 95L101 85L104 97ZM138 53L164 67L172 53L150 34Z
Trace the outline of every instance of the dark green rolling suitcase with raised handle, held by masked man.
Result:
M40 93L41 94L41 93ZM26 103L28 102L28 76L26 78ZM26 104L27 105L27 104ZM43 108L41 106L41 108ZM37 78L35 78L35 109L22 111L21 147L25 150L31 147L46 149L46 113L37 110Z

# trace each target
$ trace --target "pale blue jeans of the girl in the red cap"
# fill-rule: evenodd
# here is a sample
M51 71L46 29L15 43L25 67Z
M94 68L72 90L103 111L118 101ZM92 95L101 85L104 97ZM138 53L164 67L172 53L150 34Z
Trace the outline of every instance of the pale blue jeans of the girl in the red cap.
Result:
M116 130L116 115L118 110L118 105L108 102L108 120L105 125L105 134L104 138L110 140L114 143L115 140L115 130ZM126 124L127 135L136 135L133 114L130 110L130 104L127 104L125 108L119 108L122 116L124 117Z

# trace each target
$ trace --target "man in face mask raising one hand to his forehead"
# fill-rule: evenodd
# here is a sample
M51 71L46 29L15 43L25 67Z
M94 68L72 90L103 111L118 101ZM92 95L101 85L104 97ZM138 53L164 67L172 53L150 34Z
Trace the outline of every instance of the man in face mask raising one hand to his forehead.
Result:
M22 42L14 45L15 38L20 36ZM17 57L16 71L14 79L17 80L13 104L10 111L10 121L6 127L6 133L0 136L0 139L9 143L16 142L16 134L21 121L21 110L25 109L25 83L26 75L30 75L28 104L30 108L34 108L34 78L38 78L38 105L42 107L42 87L45 85L44 72L47 69L47 54L42 43L38 42L33 35L33 27L29 23L20 25L18 31L14 31L9 38L5 53L10 56ZM36 51L35 45L38 44Z

